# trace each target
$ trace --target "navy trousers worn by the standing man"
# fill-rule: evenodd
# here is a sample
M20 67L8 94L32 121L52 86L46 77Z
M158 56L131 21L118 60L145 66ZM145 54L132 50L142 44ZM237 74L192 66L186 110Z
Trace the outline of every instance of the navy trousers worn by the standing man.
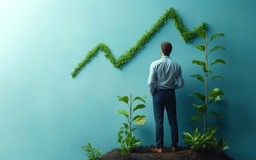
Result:
M178 144L178 123L176 116L176 95L174 89L156 90L153 95L153 113L155 117L155 142L157 148L164 147L164 109L168 115L172 133L172 147Z

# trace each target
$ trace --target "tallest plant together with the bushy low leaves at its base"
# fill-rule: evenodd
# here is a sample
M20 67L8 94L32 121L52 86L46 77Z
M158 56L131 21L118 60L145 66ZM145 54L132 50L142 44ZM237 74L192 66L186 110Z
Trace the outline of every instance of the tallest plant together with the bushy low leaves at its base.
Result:
M225 80L220 75L212 75L213 71L211 70L211 67L216 65L217 63L226 64L226 62L223 59L215 59L209 65L209 55L213 51L216 51L218 49L225 49L225 48L222 46L216 45L212 49L210 49L210 51L208 51L208 47L209 47L210 42L213 39L215 39L217 37L222 37L225 35L223 33L214 34L214 35L212 35L212 37L210 38L210 41L208 42L207 37L206 37L206 31L196 31L196 33L202 39L204 39L204 45L196 45L196 48L204 53L205 61L193 60L192 63L202 67L204 77L202 77L202 75L200 75L200 74L191 75L191 77L194 77L198 81L204 83L204 91L205 92L204 92L204 94L202 94L202 93L191 93L190 94L192 96L197 97L202 102L202 104L193 104L193 106L199 113L196 113L194 116L192 116L192 118L190 119L190 122L203 119L204 120L204 128L203 128L204 133L201 134L198 131L198 128L196 128L192 135L190 135L190 133L186 132L186 133L184 133L183 137L184 137L184 141L192 149L195 149L197 151L198 150L203 151L204 149L214 148L217 152L220 153L221 151L224 151L225 149L229 149L229 146L227 145L229 140L223 141L222 139L220 139L220 141L218 141L217 137L214 135L216 133L216 130L218 129L218 127L210 127L210 128L208 128L208 131L206 132L206 119L208 117L208 112L209 112L208 107L212 103L221 101L222 96L224 96L225 93L218 88L213 88L212 90L208 91L208 83L212 79L221 79L223 81ZM209 75L212 75L212 77L210 78ZM222 117L222 115L220 115L219 113L216 113L214 111L210 111L209 115L212 117Z

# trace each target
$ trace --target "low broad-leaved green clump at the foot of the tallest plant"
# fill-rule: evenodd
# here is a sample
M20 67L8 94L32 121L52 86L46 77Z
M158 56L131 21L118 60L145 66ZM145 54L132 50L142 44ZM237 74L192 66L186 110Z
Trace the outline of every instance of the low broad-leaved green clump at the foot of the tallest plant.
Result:
M218 127L210 127L205 134L201 134L198 128L194 130L194 133L183 133L184 141L188 144L191 149L197 151L203 151L204 149L210 149L214 142L214 134Z

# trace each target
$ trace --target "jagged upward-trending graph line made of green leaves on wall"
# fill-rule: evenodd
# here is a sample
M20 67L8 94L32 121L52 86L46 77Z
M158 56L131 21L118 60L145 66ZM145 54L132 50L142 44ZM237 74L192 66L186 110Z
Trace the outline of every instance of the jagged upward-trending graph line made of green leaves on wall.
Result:
M92 48L87 55L84 57L84 59L78 63L78 66L74 68L74 71L71 73L72 78L76 77L80 70L87 65L92 58L97 55L99 50L104 52L105 57L111 61L111 63L114 65L114 67L117 67L121 69L125 63L130 61L133 56L138 53L143 47L145 47L145 44L153 37L153 35L159 31L159 29L166 24L167 19L172 19L174 21L175 27L180 32L180 35L182 35L182 38L184 39L185 43L189 43L192 41L192 38L196 36L196 31L200 30L206 30L206 23L202 22L200 26L194 28L192 31L188 30L186 26L182 24L182 21L180 20L180 17L178 17L178 14L174 9L171 7L170 9L166 10L166 13L160 17L155 24L152 25L149 31L146 31L144 35L141 36L141 39L137 41L135 46L131 47L129 50L125 51L123 55L121 55L118 59L115 59L113 54L111 53L111 50L105 43L99 43L96 47Z

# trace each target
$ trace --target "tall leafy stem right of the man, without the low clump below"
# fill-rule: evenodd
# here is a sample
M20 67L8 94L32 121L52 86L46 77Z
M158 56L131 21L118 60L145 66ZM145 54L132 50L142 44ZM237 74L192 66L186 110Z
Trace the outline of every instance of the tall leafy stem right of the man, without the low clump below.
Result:
M218 88L213 88L212 90L210 90L210 92L208 91L208 84L212 79L221 79L223 81L225 80L220 75L212 75L213 74L212 67L214 65L216 65L216 63L226 64L226 62L223 59L215 59L214 61L210 62L209 55L218 49L225 49L225 48L220 45L216 45L212 49L208 49L208 47L210 45L210 42L213 39L215 39L217 37L223 37L223 36L225 36L225 34L216 33L216 34L212 35L212 37L210 38L210 41L208 41L208 39L206 37L206 31L204 31L204 30L196 31L196 33L202 39L204 39L204 45L196 45L196 48L204 53L205 61L193 60L192 63L194 63L196 65L200 65L200 67L202 67L204 77L202 77L200 74L192 75L191 77L195 77L196 79L198 79L199 81L204 83L204 93L203 94L201 94L201 93L191 93L190 94L190 95L198 97L198 99L200 99L200 101L202 101L202 104L193 104L193 106L200 113L194 115L191 118L190 122L196 121L199 119L203 119L204 120L204 133L205 133L206 132L206 120L208 117L208 110L209 110L208 107L210 105L212 105L212 103L216 103L216 101L220 101L222 99L222 96L225 95L225 93L223 93ZM220 115L219 113L216 113L214 111L211 111L210 115L213 117L222 117L222 115Z

